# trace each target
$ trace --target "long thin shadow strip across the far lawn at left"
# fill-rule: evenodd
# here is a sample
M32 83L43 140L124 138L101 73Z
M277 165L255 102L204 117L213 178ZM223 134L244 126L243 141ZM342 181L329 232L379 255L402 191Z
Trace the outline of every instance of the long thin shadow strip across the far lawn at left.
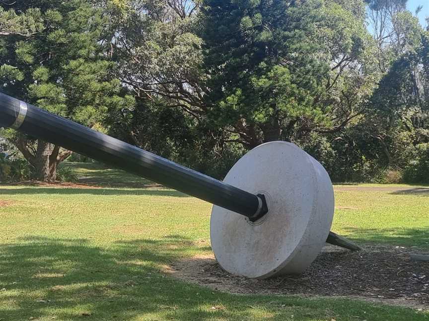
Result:
M74 195L74 194L86 194L86 195L147 195L147 196L170 196L170 197L189 197L174 190L166 189L102 189L102 188L34 188L24 187L7 189L0 188L0 195L38 195L38 194L50 194L50 195Z

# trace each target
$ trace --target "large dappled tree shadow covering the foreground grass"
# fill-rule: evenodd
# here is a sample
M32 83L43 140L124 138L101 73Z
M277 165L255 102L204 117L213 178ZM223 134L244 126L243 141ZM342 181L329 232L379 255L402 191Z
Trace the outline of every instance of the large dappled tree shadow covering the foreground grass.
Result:
M45 237L0 244L0 285L4 288L0 319L311 321L335 316L355 320L349 317L352 314L363 320L366 312L377 321L425 318L411 310L348 300L234 296L159 272L163 265L186 256L192 243L180 235L168 235L157 240L117 241L106 248L86 239Z

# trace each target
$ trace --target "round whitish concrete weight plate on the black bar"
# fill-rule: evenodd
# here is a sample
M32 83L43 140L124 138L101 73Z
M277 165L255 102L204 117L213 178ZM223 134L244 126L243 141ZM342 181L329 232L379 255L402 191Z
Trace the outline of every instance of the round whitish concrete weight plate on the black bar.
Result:
M225 183L266 196L269 212L250 222L213 206L210 237L226 271L251 278L300 273L319 254L334 215L325 168L294 144L270 142L244 155Z

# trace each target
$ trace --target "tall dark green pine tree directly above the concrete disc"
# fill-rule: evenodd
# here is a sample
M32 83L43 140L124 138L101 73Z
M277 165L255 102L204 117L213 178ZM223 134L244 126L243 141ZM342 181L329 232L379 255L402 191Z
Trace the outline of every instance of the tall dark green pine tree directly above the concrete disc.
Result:
M233 125L249 148L278 140L317 108L328 69L311 42L320 12L308 1L206 0L207 96L217 124Z

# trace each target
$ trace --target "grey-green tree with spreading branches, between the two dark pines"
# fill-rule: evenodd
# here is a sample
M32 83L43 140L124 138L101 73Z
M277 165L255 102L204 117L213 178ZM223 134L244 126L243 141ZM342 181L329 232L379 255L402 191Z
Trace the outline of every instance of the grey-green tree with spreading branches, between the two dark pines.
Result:
M111 132L219 177L242 152L225 147L223 130L205 123L198 12L198 1L190 0L135 0L112 8L113 57L137 104Z

